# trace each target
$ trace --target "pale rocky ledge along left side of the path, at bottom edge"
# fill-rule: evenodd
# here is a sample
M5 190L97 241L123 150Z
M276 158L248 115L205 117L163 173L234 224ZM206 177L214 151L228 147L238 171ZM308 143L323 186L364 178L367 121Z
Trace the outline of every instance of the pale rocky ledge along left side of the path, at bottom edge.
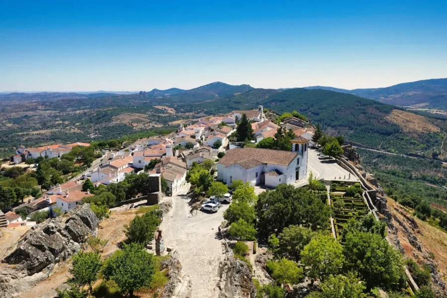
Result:
M182 266L176 253L162 262L162 268L169 271L169 282L161 298L191 298L192 288L189 276L182 274Z

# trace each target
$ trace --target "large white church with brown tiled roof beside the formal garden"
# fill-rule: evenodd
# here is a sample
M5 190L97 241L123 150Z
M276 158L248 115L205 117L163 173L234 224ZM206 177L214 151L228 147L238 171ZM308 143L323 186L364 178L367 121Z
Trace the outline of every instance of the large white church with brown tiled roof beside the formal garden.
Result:
M218 180L228 185L237 179L251 185L264 183L267 187L276 187L282 183L292 184L305 177L300 171L303 166L300 161L302 158L298 152L258 148L231 149L217 163Z

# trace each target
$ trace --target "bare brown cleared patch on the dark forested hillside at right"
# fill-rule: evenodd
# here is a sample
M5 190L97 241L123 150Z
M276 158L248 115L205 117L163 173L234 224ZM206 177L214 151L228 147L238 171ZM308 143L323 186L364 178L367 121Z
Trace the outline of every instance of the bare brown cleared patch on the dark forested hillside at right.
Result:
M424 116L401 110L392 110L385 119L400 126L404 132L432 133L440 131L439 127L429 123Z

